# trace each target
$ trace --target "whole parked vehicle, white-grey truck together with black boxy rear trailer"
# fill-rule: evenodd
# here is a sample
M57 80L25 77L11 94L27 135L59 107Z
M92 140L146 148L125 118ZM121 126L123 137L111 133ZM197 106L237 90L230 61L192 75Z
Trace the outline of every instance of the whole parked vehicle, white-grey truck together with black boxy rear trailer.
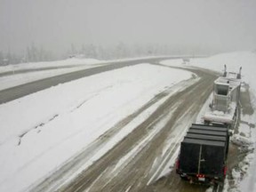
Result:
M192 124L180 143L176 172L190 183L222 184L227 172L229 134L236 124L241 70L214 81L212 102L202 124Z

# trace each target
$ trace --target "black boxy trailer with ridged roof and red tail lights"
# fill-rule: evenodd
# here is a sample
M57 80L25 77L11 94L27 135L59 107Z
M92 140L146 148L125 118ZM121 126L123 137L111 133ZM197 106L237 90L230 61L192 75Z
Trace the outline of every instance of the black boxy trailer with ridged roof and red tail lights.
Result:
M222 182L227 171L228 141L225 127L192 124L180 144L176 172L193 183Z

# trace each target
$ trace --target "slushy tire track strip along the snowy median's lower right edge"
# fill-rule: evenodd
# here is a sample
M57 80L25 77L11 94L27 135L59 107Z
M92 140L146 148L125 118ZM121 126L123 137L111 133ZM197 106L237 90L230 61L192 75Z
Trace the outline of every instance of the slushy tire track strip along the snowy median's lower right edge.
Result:
M38 181L38 183L36 183L35 186L31 187L31 189L29 190L52 191L56 188L59 188L61 185L63 185L63 183L65 184L68 177L70 180L70 176L72 176L73 174L76 175L76 172L79 172L81 167L83 167L83 165L86 164L86 162L88 162L90 158L92 158L92 156L96 155L100 148L104 148L106 143L112 140L118 132L122 132L122 129L124 129L127 124L130 124L134 120L134 118L140 116L140 114L144 112L147 112L148 108L151 108L152 106L156 105L157 102L161 101L169 94L172 94L173 90L176 90L179 87L184 89L184 86L186 86L186 84L191 83L188 83L188 81L184 81L180 82L180 84L175 84L174 86L171 86L169 88L166 87L166 90L156 94L156 96L152 100L149 100L148 103L139 108L133 114L125 117L114 127L110 128L107 132L100 135L100 137L97 140L93 141L87 148L84 148L83 151L78 152L78 155L76 157L71 157L68 162L60 166L59 170L51 172L46 179ZM84 104L84 102L86 102L86 100L81 102L78 106L76 106L76 108L79 108L80 105ZM73 108L71 112L73 112L73 110L76 110L76 108Z

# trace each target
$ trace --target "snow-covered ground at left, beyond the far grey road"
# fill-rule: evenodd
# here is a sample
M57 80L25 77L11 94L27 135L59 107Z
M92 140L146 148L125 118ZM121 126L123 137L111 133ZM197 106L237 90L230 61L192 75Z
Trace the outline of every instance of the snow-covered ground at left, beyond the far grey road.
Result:
M100 60L72 58L68 60L2 66L0 67L0 91L20 84L27 84L47 77L58 76L85 68L93 68L103 64L104 61ZM17 73L22 70L31 69L35 71L26 73L26 75L24 73ZM11 74L1 76L1 74L8 72L11 72Z

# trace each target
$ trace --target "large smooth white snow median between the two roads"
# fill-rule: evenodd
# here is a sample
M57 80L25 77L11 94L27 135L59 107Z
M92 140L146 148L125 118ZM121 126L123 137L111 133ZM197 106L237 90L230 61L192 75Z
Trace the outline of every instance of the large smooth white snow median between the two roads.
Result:
M26 190L157 93L191 76L140 64L0 105L0 191Z

